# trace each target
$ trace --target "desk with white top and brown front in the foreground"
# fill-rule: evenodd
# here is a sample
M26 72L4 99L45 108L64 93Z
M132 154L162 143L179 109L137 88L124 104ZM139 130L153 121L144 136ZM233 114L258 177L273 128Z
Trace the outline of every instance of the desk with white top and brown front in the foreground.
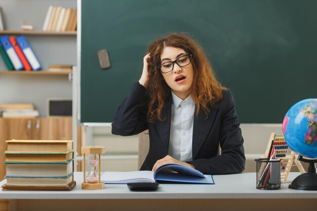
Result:
M290 173L290 181L299 173ZM82 190L75 173L72 191L0 191L14 210L316 210L317 191L258 190L255 173L216 175L215 185L161 184L158 191L132 192L127 185ZM6 181L0 182L2 186Z

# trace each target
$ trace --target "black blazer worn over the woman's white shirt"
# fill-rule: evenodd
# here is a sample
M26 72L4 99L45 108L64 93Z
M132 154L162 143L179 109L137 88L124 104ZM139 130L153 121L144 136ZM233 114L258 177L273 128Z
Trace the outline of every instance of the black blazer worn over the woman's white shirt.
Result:
M156 160L168 154L171 130L172 96L162 110L164 121L146 120L146 89L134 83L131 93L118 108L112 123L112 134L131 136L149 130L149 152L140 170L152 170ZM223 99L210 107L206 118L204 111L194 116L192 135L192 161L203 174L241 173L245 167L243 137L237 122L235 103L230 91L223 91ZM219 143L221 155L219 155Z

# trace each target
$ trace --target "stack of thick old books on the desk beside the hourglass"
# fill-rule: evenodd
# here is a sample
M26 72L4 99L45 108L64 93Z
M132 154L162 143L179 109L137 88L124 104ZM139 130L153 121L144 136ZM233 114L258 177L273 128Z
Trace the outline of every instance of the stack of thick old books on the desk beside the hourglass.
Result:
M71 190L73 141L10 140L3 190Z

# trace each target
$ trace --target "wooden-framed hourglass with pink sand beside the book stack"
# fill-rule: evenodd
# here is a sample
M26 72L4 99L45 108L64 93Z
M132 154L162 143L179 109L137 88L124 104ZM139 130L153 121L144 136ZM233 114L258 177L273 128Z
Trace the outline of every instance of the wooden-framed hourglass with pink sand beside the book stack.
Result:
M106 147L82 147L82 154L84 156L84 182L82 183L82 189L99 190L104 188L104 183L100 183L100 154L104 153L105 151ZM90 166L90 171L87 173L87 175L86 159ZM97 165L98 172L96 171Z

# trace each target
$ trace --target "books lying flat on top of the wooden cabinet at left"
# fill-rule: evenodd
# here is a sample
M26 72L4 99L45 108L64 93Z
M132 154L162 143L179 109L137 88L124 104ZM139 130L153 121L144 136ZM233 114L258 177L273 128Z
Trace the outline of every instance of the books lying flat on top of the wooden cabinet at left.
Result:
M32 103L2 103L0 115L4 118L35 118L39 113Z

